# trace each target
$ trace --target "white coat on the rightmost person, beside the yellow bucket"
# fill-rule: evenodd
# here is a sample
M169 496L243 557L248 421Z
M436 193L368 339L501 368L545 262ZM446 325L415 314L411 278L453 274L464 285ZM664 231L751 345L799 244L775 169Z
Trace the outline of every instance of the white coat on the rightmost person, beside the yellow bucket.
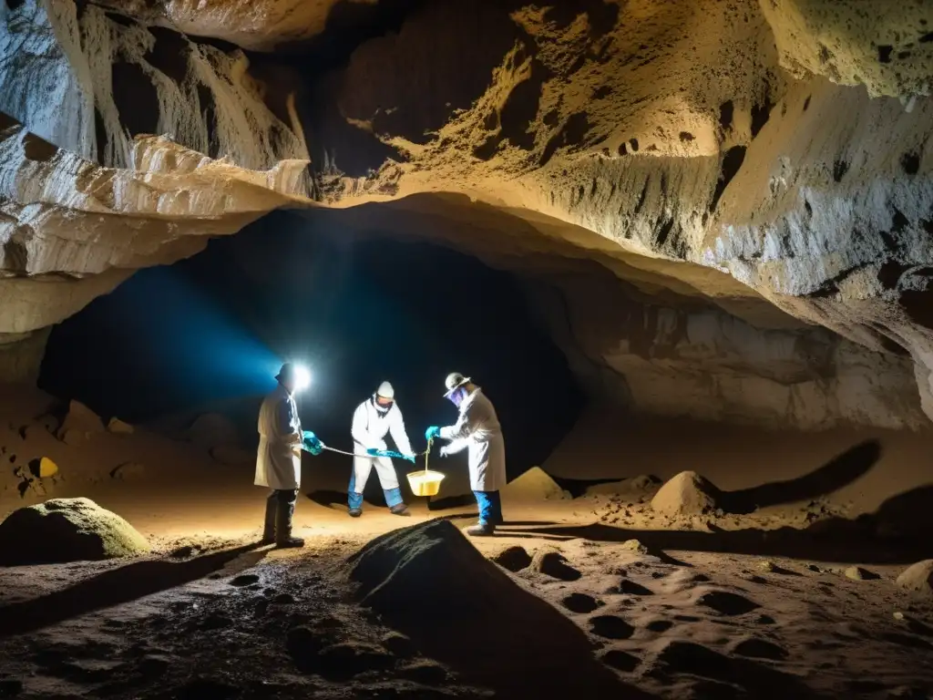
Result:
M506 485L506 442L493 403L478 387L460 404L453 426L440 428L449 440L447 455L469 449L469 482L474 491L498 491Z

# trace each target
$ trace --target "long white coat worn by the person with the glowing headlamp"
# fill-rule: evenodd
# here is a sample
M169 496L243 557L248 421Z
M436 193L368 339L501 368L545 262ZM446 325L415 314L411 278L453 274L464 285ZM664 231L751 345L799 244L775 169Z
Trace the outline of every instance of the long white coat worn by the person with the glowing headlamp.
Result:
M259 409L256 485L287 490L301 485L301 421L295 398L283 385Z

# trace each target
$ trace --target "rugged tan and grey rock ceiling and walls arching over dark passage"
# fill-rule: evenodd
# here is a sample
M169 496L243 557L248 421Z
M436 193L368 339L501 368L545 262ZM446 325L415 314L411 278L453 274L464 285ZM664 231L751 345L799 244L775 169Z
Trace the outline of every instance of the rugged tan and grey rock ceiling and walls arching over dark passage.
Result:
M20 345L291 206L527 276L575 369L638 409L933 416L933 4L105 5L0 26ZM270 52L338 26L342 63Z

